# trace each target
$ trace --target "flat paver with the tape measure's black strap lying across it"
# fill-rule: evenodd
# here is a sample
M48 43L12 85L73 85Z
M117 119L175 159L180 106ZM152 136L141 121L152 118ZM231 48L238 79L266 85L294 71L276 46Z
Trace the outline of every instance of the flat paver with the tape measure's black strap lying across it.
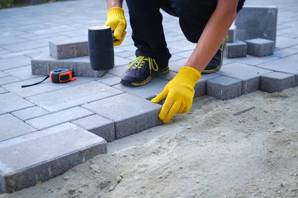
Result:
M45 77L39 77L39 78L29 79L25 81L19 81L19 82L7 84L7 85L2 85L1 87L22 98L69 87L69 85L65 83L52 83L49 79L45 80L40 84L34 85L32 87L24 87L24 88L21 87L22 85L31 85L33 83L40 82L44 78Z

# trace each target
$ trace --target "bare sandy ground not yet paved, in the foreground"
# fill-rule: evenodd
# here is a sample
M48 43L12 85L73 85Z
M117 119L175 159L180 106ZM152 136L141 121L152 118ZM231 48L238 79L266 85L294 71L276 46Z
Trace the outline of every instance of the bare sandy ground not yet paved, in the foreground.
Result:
M108 149L0 198L298 198L298 88L195 99L189 113Z

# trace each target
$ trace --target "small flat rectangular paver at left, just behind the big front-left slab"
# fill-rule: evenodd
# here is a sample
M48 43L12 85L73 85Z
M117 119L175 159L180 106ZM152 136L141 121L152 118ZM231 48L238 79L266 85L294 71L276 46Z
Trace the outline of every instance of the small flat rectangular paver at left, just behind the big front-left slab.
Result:
M33 106L19 111L14 111L11 114L23 121L26 121L49 113L50 113L49 111L43 108L40 108L39 106Z

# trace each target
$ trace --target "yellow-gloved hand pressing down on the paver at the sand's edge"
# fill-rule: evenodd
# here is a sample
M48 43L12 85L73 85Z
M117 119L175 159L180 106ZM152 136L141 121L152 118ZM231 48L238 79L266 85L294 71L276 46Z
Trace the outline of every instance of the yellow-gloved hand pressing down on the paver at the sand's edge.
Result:
M201 78L200 72L188 66L180 69L178 74L164 87L151 102L165 102L158 115L164 123L167 123L176 113L187 113L195 95L194 87Z

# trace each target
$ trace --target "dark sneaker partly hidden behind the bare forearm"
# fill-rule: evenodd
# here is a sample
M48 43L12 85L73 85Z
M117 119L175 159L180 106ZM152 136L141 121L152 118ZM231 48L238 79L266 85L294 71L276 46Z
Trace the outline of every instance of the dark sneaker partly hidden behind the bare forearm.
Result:
M204 69L203 73L211 74L219 71L223 65L224 49L228 40L228 35L226 34L224 42L220 49L216 52L215 56L211 59L207 67Z

